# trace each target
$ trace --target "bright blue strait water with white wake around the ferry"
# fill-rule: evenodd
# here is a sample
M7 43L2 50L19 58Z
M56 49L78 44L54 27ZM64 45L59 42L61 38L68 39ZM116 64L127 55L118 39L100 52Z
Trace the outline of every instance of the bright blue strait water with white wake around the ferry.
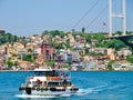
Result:
M0 72L0 100L22 100L19 86L31 72ZM72 72L72 82L80 88L76 94L33 100L133 100L132 71ZM31 99L28 99L31 100Z

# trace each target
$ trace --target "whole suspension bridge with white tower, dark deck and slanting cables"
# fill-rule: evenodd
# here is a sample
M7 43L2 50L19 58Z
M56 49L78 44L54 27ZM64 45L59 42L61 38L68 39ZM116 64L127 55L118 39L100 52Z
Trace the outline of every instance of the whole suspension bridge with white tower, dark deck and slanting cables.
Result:
M131 41L129 41L131 38L133 38L133 33L130 33L127 34L126 31L127 31L127 27L126 27L126 2L127 0L121 0L121 3L117 3L120 7L121 7L121 10L119 11L119 13L115 12L114 10L114 6L113 4L116 4L115 3L116 0L109 0L109 3L108 6L105 6L101 11L100 13L98 13L96 17L94 17L92 19L92 21L89 23L89 26L86 26L84 29L88 29L90 26L92 26L94 23L94 21L106 10L109 9L109 37L106 39L119 39L121 41L123 41L126 46L130 46L132 49L133 49L133 43ZM93 8L100 2L100 0L96 0L95 3L83 14L83 17L73 26L73 29L79 26L81 23L81 21L89 14L90 11L93 10ZM119 7L116 6L116 7ZM122 31L122 34L119 34L119 36L114 36L113 34L113 30L115 28L114 26L114 21L113 19L121 19L121 31Z

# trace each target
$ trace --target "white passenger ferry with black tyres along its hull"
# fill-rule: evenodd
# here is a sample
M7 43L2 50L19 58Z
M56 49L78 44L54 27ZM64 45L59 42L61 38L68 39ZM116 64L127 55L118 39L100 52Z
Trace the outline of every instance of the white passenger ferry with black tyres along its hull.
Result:
M71 82L71 72L53 69L34 69L33 76L27 78L25 83L19 88L22 96L19 98L29 97L54 97L76 93L76 88Z

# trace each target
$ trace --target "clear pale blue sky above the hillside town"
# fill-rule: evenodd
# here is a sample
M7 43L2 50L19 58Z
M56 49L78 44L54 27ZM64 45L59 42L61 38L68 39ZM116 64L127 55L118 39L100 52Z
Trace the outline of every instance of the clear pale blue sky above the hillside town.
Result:
M133 0L125 1L127 30L133 31ZM113 3L120 11L119 0ZM44 30L81 31L83 27L86 32L108 31L108 4L109 0L0 0L0 29L22 37ZM121 30L120 23L114 20L113 30Z

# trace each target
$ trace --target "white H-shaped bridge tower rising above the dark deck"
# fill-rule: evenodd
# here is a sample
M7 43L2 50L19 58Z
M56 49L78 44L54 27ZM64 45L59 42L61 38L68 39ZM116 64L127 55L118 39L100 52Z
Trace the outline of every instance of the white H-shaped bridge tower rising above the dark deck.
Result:
M122 0L122 12L121 13L113 13L113 0L109 0L109 37L112 37L112 19L113 18L121 18L122 19L122 26L123 26L123 33L122 36L125 36L126 32L126 16L125 16L125 0Z

